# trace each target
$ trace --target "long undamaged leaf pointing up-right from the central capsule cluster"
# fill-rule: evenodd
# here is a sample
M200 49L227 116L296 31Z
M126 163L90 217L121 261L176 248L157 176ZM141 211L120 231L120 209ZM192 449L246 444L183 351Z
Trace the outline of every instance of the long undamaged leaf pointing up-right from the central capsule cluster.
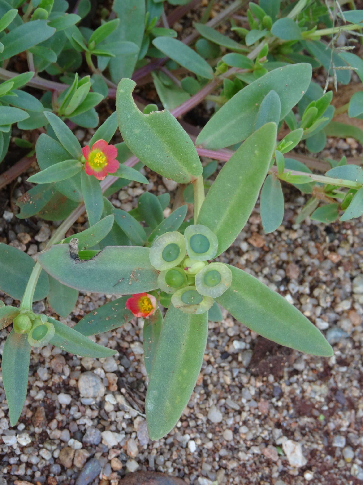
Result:
M255 131L226 162L209 189L197 223L217 236L217 256L226 251L246 224L269 169L275 140L275 123Z

